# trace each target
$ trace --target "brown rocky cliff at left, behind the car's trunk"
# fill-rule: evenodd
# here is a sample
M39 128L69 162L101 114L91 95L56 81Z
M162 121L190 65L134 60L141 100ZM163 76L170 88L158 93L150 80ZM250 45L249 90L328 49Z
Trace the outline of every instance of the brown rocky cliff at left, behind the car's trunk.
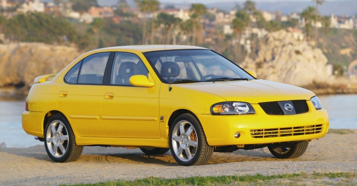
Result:
M0 44L0 87L29 88L35 77L58 73L79 55L75 47L44 43Z

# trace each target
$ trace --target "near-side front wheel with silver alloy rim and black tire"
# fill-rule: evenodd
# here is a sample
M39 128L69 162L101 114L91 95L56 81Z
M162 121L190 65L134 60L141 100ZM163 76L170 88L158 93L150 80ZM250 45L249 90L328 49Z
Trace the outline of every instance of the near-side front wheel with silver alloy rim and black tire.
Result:
M183 166L207 163L214 150L207 143L201 123L188 113L178 116L171 123L169 142L172 156Z

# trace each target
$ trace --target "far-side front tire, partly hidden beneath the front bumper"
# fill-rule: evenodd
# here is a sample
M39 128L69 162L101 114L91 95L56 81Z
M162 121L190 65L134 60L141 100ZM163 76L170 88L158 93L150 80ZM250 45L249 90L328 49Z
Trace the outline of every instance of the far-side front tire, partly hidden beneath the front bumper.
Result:
M276 157L281 159L298 158L305 153L308 141L301 141L290 148L272 148L268 147L269 151Z

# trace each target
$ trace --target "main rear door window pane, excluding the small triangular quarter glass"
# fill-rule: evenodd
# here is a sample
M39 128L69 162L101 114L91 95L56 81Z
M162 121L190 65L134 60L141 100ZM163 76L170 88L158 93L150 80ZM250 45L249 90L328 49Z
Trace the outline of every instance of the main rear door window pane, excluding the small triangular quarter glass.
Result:
M110 52L92 54L82 61L78 83L102 84Z

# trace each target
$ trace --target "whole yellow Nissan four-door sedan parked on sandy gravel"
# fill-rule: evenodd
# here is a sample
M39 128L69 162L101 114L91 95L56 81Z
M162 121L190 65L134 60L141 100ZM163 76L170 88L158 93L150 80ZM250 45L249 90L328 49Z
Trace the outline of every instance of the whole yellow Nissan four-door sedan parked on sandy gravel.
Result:
M189 166L213 152L263 147L296 158L325 136L329 121L309 90L257 79L206 48L148 45L90 51L37 77L22 126L55 162L98 145L171 150Z

